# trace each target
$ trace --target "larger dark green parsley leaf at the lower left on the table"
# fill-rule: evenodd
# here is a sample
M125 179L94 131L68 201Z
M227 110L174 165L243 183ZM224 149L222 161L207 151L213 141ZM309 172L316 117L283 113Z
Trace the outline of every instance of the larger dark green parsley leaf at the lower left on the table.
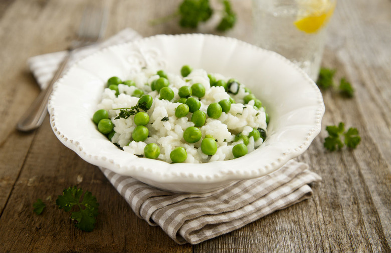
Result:
M83 190L76 186L69 187L63 191L63 194L56 199L56 205L59 209L69 212L73 207L78 207L79 211L72 212L71 219L76 220L75 226L82 231L91 232L98 216L98 207L96 197L91 192L86 191L83 200L81 197Z

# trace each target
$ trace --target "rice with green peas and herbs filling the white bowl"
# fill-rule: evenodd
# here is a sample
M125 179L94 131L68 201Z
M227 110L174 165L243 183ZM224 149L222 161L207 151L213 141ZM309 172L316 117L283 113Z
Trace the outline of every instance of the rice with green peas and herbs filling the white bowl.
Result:
M181 75L143 68L126 81L109 78L92 119L125 152L204 163L252 152L269 116L239 81L185 65Z

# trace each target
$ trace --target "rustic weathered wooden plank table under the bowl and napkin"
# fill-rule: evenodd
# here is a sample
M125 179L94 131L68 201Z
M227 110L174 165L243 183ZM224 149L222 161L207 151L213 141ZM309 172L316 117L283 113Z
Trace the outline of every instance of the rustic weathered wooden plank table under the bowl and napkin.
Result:
M143 36L193 32L177 20L148 21L180 0L109 0L105 37L131 27ZM177 245L136 217L100 170L63 146L48 117L31 133L15 130L39 93L29 57L64 50L76 37L85 0L0 1L0 251L1 252L391 252L391 2L338 1L323 66L336 68L356 92L323 92L322 131L298 159L323 178L314 196L241 229L198 245ZM251 1L234 0L238 23L227 36L252 42ZM325 127L357 127L355 150L328 152ZM76 229L54 200L78 185L100 203L96 228ZM41 216L37 198L52 201Z

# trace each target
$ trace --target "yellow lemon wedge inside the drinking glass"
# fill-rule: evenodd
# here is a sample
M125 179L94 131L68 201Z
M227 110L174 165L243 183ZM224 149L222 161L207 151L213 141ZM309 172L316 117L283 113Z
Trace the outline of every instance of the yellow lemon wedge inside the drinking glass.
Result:
M335 9L335 1L330 0L301 1L300 5L304 11L301 14L299 12L299 18L294 24L306 33L316 33L327 24Z

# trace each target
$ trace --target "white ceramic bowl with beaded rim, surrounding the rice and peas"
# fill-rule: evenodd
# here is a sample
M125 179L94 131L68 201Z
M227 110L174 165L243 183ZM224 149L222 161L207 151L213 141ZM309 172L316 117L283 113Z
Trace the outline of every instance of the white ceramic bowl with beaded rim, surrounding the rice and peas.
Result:
M262 101L270 123L259 148L230 161L170 164L122 151L98 132L91 118L109 77L145 65L179 74L186 64L234 77ZM286 58L233 38L182 34L115 45L79 61L56 82L48 109L58 139L85 161L164 190L207 192L271 173L303 153L325 108L316 84Z

